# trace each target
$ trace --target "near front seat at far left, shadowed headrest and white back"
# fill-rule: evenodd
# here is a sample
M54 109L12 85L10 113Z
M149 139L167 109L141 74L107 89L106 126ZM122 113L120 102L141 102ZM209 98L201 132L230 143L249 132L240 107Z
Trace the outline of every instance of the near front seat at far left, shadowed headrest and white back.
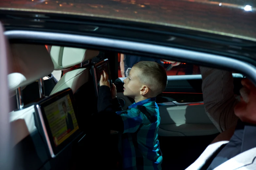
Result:
M49 75L54 65L44 45L12 44L10 45L10 69L8 75L10 97L15 95L18 87L34 82ZM24 106L21 110L9 113L12 146L29 134L35 132L34 105Z

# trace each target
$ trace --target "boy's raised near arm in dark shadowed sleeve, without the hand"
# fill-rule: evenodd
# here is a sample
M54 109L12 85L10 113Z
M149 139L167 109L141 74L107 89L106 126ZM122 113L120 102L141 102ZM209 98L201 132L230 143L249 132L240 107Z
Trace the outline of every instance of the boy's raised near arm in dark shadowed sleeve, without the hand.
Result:
M117 98L115 100L118 101ZM134 133L146 119L144 114L138 109L129 109L127 111L115 112L113 109L110 88L108 86L99 87L98 113L91 119L91 128L94 131L114 130L119 133ZM119 103L119 102L118 102Z

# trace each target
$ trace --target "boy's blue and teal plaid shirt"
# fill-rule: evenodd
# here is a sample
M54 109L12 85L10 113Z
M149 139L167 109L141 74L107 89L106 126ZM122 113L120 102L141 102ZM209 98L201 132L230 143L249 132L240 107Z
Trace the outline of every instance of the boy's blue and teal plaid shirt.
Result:
M156 98L133 103L118 111L124 122L122 157L124 170L161 170L162 152L158 141L160 124Z

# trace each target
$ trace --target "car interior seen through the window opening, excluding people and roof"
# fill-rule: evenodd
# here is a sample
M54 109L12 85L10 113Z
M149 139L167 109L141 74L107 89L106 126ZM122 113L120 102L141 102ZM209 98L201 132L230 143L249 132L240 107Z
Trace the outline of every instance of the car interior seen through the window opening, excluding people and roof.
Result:
M97 113L98 76L103 69L111 75L123 109L134 103L123 95L121 52L29 43L11 43L10 51L9 98L16 99L11 100L9 110L13 169L79 169L86 162L79 157L86 150L86 122ZM161 62L164 68L169 67L169 62ZM167 72L167 87L156 98L162 169L185 169L219 134L205 112L199 65L189 64L181 62ZM188 67L194 68L190 75L186 74ZM61 76L50 86L44 77L51 73ZM237 96L243 77L233 73ZM34 93L37 98L30 98ZM64 134L63 102L74 126Z

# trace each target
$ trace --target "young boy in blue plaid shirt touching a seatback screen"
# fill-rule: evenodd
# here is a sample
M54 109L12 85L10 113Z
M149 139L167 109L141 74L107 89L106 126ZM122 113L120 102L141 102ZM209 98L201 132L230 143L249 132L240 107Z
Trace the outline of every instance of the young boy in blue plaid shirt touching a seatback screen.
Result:
M160 116L156 96L164 91L166 84L167 75L160 64L138 62L124 80L124 95L133 98L135 103L127 110L122 110L116 98L115 85L112 84L110 89L108 75L105 72L101 75L98 113L92 121L104 126L101 130L107 133L111 130L122 134L122 169L162 169L162 152L158 141Z

